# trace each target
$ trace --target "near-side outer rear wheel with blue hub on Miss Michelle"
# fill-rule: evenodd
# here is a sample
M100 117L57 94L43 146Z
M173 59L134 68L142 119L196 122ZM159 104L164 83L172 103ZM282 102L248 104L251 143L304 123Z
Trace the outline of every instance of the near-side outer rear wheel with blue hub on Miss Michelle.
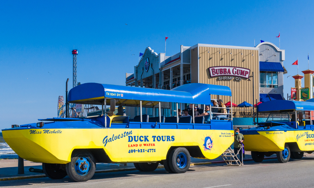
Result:
M169 166L174 173L185 173L191 164L191 156L186 148L173 149L168 157Z

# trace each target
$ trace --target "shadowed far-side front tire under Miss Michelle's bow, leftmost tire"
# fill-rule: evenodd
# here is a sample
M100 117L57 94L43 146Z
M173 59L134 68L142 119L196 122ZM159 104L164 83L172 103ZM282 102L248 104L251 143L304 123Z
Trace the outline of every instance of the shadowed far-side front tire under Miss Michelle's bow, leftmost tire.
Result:
M60 164L43 163L42 170L48 178L53 180L62 179L67 175L67 172L60 168Z

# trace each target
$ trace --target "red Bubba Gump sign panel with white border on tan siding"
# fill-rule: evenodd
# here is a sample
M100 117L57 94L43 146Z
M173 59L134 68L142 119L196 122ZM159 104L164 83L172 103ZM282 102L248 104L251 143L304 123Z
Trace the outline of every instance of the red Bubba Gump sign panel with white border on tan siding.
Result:
M245 69L241 67L231 67L231 66L216 66L209 67L210 77L215 76L237 76L242 78L249 78L250 69Z

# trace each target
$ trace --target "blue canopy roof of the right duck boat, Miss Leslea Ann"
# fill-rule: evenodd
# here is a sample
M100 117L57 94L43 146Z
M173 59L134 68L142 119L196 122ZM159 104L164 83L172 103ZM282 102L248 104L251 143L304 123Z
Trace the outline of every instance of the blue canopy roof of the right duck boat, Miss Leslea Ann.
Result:
M314 103L304 101L273 100L259 104L258 112L283 110L314 110Z

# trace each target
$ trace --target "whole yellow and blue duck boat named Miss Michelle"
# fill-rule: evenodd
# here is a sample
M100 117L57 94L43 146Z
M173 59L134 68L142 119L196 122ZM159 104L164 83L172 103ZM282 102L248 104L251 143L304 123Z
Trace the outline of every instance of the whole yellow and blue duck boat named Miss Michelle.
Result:
M74 181L89 180L96 163L134 163L142 171L153 171L161 163L168 172L184 173L190 156L214 159L233 143L232 114L226 120L161 114L178 103L210 104L211 95L231 98L231 91L208 84L160 90L85 83L69 91L69 103L110 104L110 112L103 110L100 115L84 118L39 119L38 123L3 129L2 133L20 157L42 163L52 179L68 175ZM134 107L138 116L130 119L123 111L113 115L116 106ZM149 116L142 108L157 115Z

